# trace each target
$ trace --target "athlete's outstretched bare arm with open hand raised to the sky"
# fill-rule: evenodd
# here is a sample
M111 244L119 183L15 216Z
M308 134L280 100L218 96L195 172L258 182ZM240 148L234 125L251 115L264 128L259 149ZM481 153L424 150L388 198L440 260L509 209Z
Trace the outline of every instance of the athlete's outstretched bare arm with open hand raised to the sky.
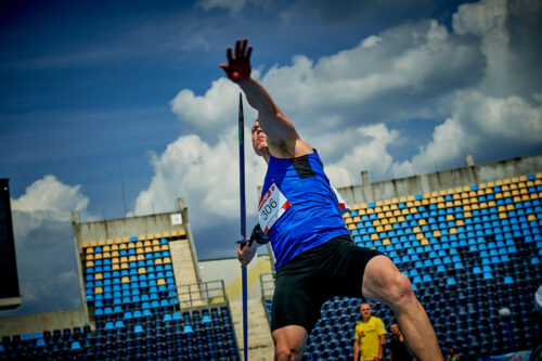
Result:
M312 152L312 147L301 140L292 120L282 113L261 83L250 77L250 54L247 39L235 42L235 52L228 48L228 64L219 66L230 80L236 82L248 103L258 111L258 123L267 136L269 151L278 157L296 157Z

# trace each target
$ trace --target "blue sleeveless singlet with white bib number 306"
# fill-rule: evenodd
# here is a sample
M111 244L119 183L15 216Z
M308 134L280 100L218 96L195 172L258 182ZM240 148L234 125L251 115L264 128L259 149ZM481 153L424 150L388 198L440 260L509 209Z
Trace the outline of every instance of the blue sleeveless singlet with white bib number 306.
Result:
M276 268L336 236L350 234L315 150L297 158L270 155L261 196L259 221L271 238Z

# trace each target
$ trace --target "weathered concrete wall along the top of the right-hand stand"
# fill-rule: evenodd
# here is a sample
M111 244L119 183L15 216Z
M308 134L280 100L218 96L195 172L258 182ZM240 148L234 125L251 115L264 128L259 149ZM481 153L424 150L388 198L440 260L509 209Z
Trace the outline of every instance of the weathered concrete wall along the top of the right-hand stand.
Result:
M343 198L352 206L459 186L470 186L540 171L542 171L542 154L537 154L374 183L369 181L366 171L363 171L363 184L344 186L338 191Z

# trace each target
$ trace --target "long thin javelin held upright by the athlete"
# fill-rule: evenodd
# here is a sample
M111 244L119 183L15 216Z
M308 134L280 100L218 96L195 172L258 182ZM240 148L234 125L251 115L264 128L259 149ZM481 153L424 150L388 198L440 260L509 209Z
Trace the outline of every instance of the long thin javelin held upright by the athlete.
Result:
M246 204L245 204L245 119L243 116L243 96L238 94L238 179L241 194L241 247L246 244ZM243 347L245 361L248 360L248 311L246 289L246 266L241 268L243 288Z

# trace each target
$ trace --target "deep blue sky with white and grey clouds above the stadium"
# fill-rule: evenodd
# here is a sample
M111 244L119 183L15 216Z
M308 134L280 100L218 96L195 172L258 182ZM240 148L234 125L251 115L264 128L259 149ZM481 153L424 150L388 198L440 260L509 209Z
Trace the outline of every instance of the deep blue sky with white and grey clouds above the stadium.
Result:
M0 178L23 305L0 317L80 305L72 210L183 197L198 258L234 257L240 89L218 64L235 39L340 188L540 153L541 35L538 0L2 0ZM264 172L247 147L248 224Z

